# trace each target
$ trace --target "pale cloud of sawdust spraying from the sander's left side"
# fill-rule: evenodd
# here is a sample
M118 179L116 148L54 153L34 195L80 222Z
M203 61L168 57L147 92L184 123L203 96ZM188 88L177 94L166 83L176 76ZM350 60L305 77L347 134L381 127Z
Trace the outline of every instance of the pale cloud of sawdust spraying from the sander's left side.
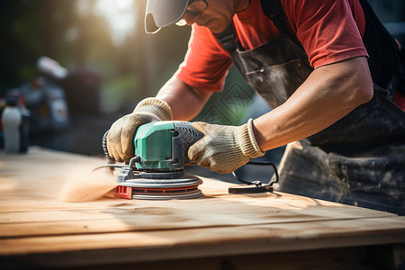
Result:
M113 197L113 189L116 186L114 176L107 169L94 173L81 169L67 175L60 198L64 202L99 201L105 197Z

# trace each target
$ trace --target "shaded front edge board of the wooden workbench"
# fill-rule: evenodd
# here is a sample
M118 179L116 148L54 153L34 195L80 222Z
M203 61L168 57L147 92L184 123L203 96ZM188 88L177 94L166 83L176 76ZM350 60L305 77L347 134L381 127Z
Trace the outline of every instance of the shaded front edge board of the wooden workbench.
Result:
M0 239L0 254L55 254L74 250L84 252L106 249L113 256L112 249L130 248L133 261L145 261L218 254L356 247L404 241L404 218L393 217L349 222L331 220L204 229L6 238Z

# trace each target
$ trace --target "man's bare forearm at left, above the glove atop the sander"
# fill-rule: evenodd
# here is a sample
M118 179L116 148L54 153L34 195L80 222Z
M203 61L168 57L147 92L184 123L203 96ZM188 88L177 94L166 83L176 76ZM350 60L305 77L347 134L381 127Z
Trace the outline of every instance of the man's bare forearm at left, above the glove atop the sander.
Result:
M174 120L192 120L202 110L211 92L195 89L173 76L157 93L172 109Z

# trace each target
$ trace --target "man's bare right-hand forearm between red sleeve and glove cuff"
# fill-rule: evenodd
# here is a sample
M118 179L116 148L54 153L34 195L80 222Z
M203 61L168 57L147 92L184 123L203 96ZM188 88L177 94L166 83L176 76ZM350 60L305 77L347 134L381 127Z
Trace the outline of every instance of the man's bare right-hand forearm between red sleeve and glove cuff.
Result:
M262 151L309 137L373 97L365 57L318 67L282 105L254 121Z

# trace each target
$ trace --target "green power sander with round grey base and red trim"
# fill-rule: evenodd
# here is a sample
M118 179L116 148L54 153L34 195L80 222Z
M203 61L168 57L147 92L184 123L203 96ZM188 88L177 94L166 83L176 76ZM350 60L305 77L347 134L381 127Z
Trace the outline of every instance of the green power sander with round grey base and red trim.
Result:
M202 195L202 180L184 175L190 164L188 148L202 139L187 121L157 121L139 126L133 145L135 157L117 175L115 194L126 199L189 199Z

